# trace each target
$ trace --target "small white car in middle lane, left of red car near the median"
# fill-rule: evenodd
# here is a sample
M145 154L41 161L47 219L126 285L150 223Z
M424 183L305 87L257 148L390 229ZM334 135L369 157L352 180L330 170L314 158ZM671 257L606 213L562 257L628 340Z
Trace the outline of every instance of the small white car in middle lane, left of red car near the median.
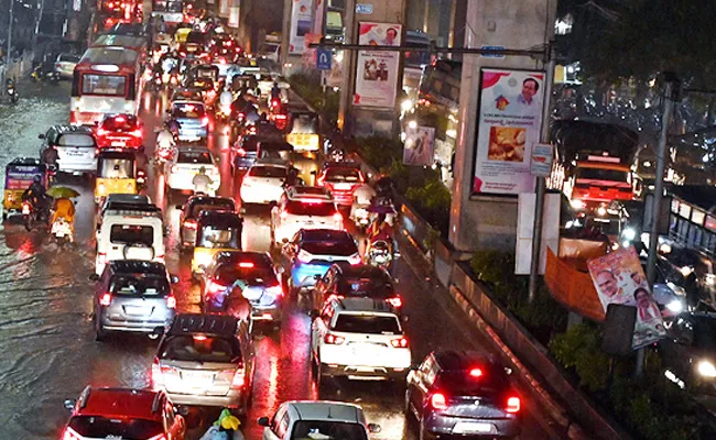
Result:
M241 180L242 204L269 204L279 201L290 165L260 161L251 165Z

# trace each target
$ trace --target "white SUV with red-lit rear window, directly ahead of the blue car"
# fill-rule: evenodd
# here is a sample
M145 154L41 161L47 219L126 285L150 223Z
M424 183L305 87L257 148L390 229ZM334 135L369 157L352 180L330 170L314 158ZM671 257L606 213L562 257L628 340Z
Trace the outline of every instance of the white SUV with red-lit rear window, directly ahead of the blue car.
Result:
M302 229L343 230L343 216L330 193L316 186L292 186L271 209L271 244L291 240Z

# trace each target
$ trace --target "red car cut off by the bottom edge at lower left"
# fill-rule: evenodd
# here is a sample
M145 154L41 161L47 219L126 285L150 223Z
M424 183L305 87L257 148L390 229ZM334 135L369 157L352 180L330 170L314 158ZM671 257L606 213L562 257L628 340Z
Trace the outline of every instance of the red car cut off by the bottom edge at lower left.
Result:
M62 440L184 440L186 422L163 392L93 388L66 400L72 417Z

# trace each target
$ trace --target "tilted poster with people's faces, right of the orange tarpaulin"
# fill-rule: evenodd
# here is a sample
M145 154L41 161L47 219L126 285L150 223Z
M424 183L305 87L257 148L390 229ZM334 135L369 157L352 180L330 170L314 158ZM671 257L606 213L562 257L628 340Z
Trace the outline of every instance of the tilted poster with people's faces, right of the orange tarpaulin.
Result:
M633 246L592 258L587 266L605 311L610 304L637 308L632 349L653 343L665 334L664 321L649 292L647 277Z

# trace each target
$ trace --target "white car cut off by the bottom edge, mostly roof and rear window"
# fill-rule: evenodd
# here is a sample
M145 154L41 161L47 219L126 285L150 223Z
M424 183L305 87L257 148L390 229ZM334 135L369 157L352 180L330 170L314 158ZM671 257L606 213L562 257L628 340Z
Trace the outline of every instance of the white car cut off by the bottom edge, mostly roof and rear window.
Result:
M263 440L341 439L368 440L380 426L367 424L358 405L327 400L292 400L281 404L272 418L259 418Z

